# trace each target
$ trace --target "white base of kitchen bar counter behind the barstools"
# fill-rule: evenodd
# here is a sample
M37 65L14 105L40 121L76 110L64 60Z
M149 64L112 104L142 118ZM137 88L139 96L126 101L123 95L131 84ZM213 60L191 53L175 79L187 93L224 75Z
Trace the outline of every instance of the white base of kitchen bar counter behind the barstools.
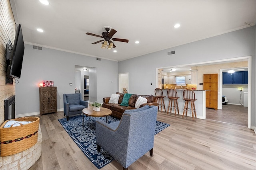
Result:
M168 109L168 104L169 104L169 99L168 99L168 95L167 95L167 90L168 89L162 89L164 96L166 96L164 98L164 104L166 107L166 111ZM183 100L183 91L185 89L175 89L177 91L178 94L178 106L179 106L179 111L180 111L180 115L183 114L183 109L184 109L184 105L185 105L185 101ZM196 95L196 101L195 101L195 107L196 107L196 117L198 119L206 119L206 91L207 90L193 90L195 92ZM191 108L190 104L188 105L188 108ZM159 107L160 109L160 107ZM169 110L170 113L170 110ZM172 113L174 113L174 109L172 111ZM186 114L186 113L185 113ZM191 111L188 111L187 116L192 117L192 113ZM184 115L185 117L185 115Z

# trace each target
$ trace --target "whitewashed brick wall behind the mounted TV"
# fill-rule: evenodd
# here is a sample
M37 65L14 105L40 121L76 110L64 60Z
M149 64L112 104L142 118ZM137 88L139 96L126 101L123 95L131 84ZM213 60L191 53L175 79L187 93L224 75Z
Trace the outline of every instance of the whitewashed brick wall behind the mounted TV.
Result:
M14 43L15 21L9 0L0 0L0 125L4 122L4 100L15 95L15 84L6 85L6 43Z

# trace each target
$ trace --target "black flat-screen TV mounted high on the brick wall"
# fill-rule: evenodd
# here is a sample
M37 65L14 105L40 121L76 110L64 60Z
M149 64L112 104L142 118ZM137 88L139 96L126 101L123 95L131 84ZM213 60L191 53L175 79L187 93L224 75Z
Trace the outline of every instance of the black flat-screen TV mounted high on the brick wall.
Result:
M20 78L24 49L25 47L24 47L21 25L18 25L18 27L16 28L16 35L14 39L12 57L10 61L9 75L12 77Z

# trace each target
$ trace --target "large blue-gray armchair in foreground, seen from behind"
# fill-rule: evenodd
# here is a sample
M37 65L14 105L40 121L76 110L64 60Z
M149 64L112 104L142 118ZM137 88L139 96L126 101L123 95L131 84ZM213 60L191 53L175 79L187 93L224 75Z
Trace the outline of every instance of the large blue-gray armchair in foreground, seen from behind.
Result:
M153 156L157 106L126 110L120 121L96 121L97 150L101 147L118 161L124 170L146 152Z

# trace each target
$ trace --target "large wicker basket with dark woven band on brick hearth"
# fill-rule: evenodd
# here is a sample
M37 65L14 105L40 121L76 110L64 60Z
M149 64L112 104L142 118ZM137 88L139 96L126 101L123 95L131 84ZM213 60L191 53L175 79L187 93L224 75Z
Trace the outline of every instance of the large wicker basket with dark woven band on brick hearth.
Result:
M26 150L37 143L39 117L21 117L11 120L32 121L26 125L4 128L0 126L0 156L8 156Z

